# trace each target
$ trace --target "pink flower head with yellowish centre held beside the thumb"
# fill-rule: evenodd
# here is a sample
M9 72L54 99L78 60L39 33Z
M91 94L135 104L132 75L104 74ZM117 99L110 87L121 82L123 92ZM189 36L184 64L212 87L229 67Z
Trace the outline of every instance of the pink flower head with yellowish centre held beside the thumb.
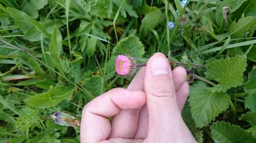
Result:
M118 75L132 76L136 70L136 59L129 56L118 55L116 71Z

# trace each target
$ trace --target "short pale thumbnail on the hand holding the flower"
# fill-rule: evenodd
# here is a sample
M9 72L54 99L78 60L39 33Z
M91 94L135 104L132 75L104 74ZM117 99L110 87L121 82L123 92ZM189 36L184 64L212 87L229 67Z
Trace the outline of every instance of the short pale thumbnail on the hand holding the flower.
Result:
M153 75L168 75L170 72L169 62L162 57L155 58L151 62L151 72Z

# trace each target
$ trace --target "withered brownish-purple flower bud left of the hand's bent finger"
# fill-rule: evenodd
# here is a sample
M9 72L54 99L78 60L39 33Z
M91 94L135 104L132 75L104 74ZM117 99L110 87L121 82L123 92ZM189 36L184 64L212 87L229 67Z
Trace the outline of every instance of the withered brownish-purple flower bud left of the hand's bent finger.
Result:
M53 112L50 117L58 125L68 126L68 127L72 126L75 129L81 125L81 122L75 119L76 115L68 112L56 111L56 112Z

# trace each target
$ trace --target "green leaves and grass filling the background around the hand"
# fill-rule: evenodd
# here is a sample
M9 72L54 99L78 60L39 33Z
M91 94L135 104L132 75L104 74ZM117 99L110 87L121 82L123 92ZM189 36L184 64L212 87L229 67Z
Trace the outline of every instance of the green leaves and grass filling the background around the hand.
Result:
M127 87L118 54L155 52L194 73L182 115L198 142L256 141L256 0L0 0L0 22L0 142L79 142L49 115Z

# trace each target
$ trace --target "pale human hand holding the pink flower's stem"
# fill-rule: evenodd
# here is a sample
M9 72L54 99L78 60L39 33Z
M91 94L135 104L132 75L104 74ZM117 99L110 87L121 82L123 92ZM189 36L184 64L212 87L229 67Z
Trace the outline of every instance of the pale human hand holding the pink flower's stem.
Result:
M112 89L84 107L81 143L196 142L181 117L185 78L184 68L171 71L166 57L154 54L127 89Z

